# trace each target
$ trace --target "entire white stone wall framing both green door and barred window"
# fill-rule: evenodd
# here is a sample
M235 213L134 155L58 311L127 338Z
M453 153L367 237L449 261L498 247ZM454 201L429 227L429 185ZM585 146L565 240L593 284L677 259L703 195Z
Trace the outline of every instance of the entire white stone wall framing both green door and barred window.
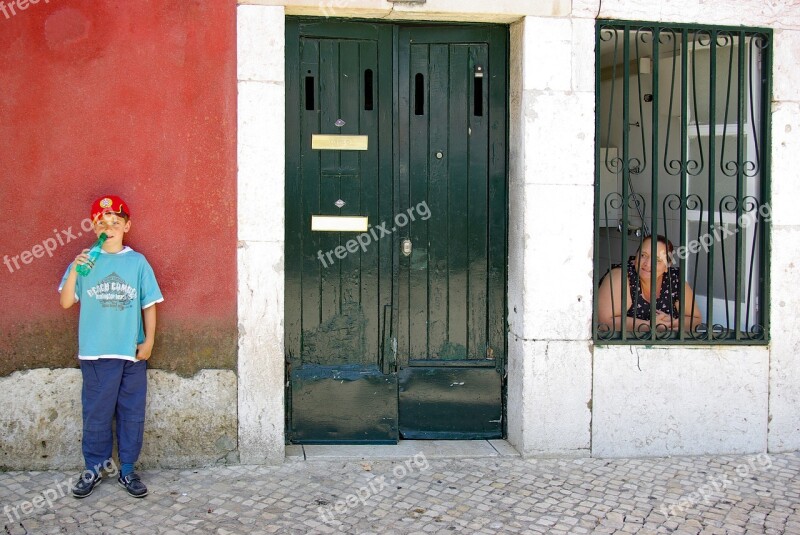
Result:
M796 0L240 3L254 4L239 7L243 459L274 460L282 452L283 389L278 384L283 379L283 288L273 278L282 281L283 221L268 217L265 239L255 235L255 220L243 214L261 205L267 187L272 200L282 198L278 162L283 161L283 133L267 130L278 120L275 110L283 109L283 70L275 63L283 61L284 13L511 23L507 420L509 440L523 455L745 453L767 445L772 451L800 447L800 365L795 358L800 320L792 317L800 304L793 284L800 271L795 261L800 210L792 205L800 198L792 173L800 168ZM775 28L768 348L592 346L598 16ZM273 69L280 75L267 74ZM265 162L272 163L269 176Z

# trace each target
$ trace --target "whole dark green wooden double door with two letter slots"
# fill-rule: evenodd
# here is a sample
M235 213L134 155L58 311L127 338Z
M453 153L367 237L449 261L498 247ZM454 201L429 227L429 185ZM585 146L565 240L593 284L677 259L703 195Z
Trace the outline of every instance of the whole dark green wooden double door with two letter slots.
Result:
M507 30L286 28L289 439L502 436Z

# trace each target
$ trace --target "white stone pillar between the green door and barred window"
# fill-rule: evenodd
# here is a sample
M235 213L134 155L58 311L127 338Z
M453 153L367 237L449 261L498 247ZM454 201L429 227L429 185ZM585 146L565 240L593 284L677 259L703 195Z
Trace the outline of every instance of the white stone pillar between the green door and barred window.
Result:
M510 41L508 439L588 455L594 24L525 17Z

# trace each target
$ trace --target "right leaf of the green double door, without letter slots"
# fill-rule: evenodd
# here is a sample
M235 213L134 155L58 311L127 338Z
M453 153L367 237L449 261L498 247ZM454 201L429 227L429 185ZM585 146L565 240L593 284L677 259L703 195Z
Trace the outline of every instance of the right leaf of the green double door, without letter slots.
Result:
M502 436L506 34L399 32L400 434Z

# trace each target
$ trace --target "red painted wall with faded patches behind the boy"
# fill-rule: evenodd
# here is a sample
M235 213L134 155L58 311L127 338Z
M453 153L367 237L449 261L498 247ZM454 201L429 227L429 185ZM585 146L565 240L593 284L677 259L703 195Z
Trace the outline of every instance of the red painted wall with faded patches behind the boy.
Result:
M0 375L76 364L56 288L107 192L166 298L151 363L234 367L235 0L32 2L0 9Z

